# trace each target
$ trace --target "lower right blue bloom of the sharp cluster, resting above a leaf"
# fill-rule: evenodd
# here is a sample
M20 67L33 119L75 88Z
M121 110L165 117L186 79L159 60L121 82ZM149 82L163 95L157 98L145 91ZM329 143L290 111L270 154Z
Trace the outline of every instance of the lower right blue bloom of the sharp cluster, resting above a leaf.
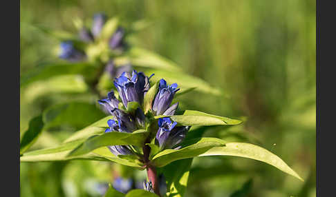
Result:
M172 123L170 118L159 118L158 132L156 133L156 144L160 149L170 149L180 144L189 127L176 127L176 122ZM176 147L178 149L180 147Z

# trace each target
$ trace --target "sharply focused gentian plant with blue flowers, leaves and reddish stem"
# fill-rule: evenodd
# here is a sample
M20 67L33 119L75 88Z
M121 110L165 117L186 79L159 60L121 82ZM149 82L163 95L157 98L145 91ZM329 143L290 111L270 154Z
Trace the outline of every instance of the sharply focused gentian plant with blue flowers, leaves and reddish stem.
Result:
M178 84L153 81L151 76L136 70L123 72L113 80L116 91L97 101L109 116L75 132L58 147L22 154L21 161L107 160L146 170L144 189L128 191L130 183L116 182L106 196L120 191L128 191L127 196L183 196L192 158L200 156L252 158L301 180L281 158L262 147L202 137L198 132L207 126L242 121L180 110L173 102L180 91Z

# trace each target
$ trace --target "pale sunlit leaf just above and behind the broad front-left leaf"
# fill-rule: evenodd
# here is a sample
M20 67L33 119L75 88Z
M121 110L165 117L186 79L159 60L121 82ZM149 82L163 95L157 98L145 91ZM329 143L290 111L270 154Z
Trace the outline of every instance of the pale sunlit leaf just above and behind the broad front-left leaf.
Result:
M105 118L100 119L99 121L89 125L88 127L85 127L84 129L81 129L78 132L75 132L70 137L68 137L64 143L68 143L71 141L77 141L79 139L86 139L88 137L97 135L97 134L104 134L104 131L106 129L107 121L109 119L113 119L113 116L106 116Z

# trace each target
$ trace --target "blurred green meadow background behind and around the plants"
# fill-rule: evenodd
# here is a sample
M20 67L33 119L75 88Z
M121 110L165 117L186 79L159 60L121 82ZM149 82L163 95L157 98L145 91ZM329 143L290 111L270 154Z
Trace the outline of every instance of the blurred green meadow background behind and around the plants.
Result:
M254 160L197 158L185 196L316 196L315 1L23 0L20 12L21 76L57 59L57 41L32 25L76 33L73 19L91 19L95 12L146 24L129 38L132 45L171 59L225 92L189 92L180 96L181 108L246 118L241 126L210 129L205 136L246 136L305 180ZM21 132L47 103L21 99ZM57 141L47 133L39 143ZM21 163L20 169L21 196L99 196L90 181L111 182L111 164L97 161Z

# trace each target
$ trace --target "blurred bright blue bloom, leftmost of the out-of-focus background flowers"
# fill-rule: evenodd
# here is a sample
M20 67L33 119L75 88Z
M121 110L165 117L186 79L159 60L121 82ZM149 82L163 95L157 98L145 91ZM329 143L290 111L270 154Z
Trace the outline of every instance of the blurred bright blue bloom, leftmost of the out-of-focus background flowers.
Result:
M59 58L66 59L67 61L83 61L86 59L86 55L80 50L75 49L73 42L64 41L60 43L61 53Z

